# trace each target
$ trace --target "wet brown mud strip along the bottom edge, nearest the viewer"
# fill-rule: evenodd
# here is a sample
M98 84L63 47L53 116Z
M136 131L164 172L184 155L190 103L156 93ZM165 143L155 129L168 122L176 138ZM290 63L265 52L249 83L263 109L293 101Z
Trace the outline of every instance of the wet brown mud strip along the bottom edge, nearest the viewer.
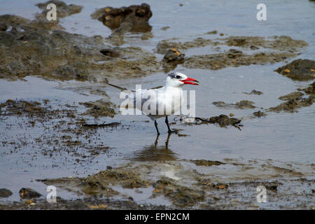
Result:
M80 196L80 200L62 200L48 203L38 199L38 193L29 189L31 197L23 195L22 202L0 205L6 209L314 209L314 179L304 176L314 174L314 165L274 165L274 161L220 161L193 160L190 169L181 162L139 162L124 167L109 167L106 171L85 178L64 177L42 179L47 185L69 190ZM191 169L202 167L198 172ZM225 167L218 171L218 166ZM162 170L169 172L163 173ZM307 171L308 170L308 171ZM171 172L170 172L171 171ZM241 174L240 174L241 173ZM260 176L256 176L256 174ZM246 176L244 176L246 174ZM239 179L241 175L241 180ZM188 176L189 179L188 179ZM268 179L268 181L264 181ZM113 188L130 188L137 194L148 189L150 198L165 197L172 206L158 207L137 204L134 198ZM267 188L269 204L253 201L256 188ZM298 188L295 188L298 186ZM25 191L22 189L21 191ZM109 200L120 195L123 200ZM241 195L241 199L239 197ZM286 200L294 195L295 200ZM93 196L93 197L92 197ZM29 202L31 199L31 202Z

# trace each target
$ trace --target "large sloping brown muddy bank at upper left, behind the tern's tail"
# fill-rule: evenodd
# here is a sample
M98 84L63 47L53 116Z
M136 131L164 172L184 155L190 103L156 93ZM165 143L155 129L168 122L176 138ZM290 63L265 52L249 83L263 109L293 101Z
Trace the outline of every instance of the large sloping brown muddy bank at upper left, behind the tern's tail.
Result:
M34 21L38 25L38 20ZM52 27L45 25L34 29L36 22L13 15L1 15L0 22L13 26L10 31L0 31L0 78L16 80L32 75L94 82L162 71L162 63L153 53L137 47L113 48L124 57L116 57L117 53L109 50L105 54L112 57L104 57L99 50L112 48L104 45L102 36L50 31Z

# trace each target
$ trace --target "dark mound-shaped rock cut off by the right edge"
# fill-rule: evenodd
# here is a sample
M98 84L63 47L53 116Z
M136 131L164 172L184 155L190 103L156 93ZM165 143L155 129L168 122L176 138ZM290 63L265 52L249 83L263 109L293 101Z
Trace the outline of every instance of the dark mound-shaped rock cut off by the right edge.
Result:
M275 71L293 80L312 80L315 78L315 61L311 59L296 59Z

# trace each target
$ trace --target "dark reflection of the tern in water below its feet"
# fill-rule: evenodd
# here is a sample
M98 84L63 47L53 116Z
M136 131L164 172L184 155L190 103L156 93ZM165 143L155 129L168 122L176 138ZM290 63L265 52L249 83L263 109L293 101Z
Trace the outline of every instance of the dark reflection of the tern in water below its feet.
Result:
M134 160L137 161L174 161L176 160L176 153L169 149L169 137L171 134L168 134L167 139L164 145L158 146L159 135L156 137L154 144L150 146L144 146L144 149L137 151L135 153Z

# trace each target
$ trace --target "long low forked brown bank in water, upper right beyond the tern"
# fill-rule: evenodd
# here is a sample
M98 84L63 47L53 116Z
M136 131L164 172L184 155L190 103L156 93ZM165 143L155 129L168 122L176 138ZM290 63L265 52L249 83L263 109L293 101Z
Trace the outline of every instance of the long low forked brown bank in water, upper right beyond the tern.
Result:
M250 64L267 64L281 62L290 57L297 56L297 49L307 46L305 41L293 40L289 36L272 36L264 38L260 36L230 36L227 38L218 38L219 41L212 41L203 38L197 38L195 41L186 43L175 43L174 41L160 41L157 47L158 53L165 53L166 49L177 48L185 50L188 48L197 48L204 45L229 45L239 48L270 48L274 52L255 52L248 55L241 50L230 49L228 52L220 52L210 55L193 55L186 57L182 66L188 69L223 69L227 66L244 66ZM222 42L225 41L225 42Z

